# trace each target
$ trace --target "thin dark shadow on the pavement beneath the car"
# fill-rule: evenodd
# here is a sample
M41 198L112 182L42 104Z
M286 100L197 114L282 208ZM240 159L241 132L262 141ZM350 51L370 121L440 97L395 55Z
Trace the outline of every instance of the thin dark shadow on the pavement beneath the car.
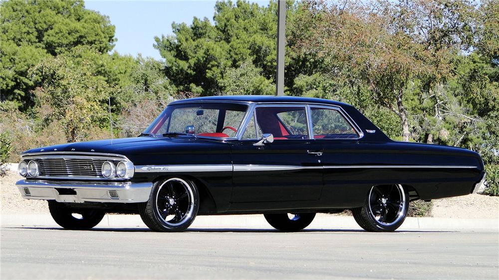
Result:
M63 228L58 227L5 227L11 229L31 229L31 230L57 230L57 231L70 231ZM104 231L104 232L154 232L148 228L144 227L136 227L136 228L93 228L87 231ZM285 233L274 229L241 229L241 228L190 228L185 232L209 232L209 233ZM314 233L314 232L364 232L368 233L365 230L360 229L304 229L294 233ZM449 230L398 230L394 232L384 232L389 234L397 234L397 233L434 233L434 232L459 232L459 231L449 231ZM373 233L376 234L376 233Z

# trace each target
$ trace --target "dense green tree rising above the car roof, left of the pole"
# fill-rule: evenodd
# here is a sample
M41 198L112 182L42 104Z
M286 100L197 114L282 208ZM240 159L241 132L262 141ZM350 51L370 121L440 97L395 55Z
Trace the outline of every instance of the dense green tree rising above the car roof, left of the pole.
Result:
M229 69L248 61L265 78L258 79L259 87L266 87L275 75L276 20L275 2L263 7L242 0L219 1L213 24L196 17L191 25L173 23L174 35L156 37L155 47L165 58L166 76L180 91L219 94L225 74L234 74Z

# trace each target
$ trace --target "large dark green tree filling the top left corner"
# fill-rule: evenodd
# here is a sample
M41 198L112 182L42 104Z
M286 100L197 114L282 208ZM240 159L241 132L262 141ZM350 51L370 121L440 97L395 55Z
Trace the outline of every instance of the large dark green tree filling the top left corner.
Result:
M41 80L28 71L44 58L81 45L100 53L114 46L109 17L86 9L82 0L1 1L0 14L2 106L27 110L34 104L30 91Z

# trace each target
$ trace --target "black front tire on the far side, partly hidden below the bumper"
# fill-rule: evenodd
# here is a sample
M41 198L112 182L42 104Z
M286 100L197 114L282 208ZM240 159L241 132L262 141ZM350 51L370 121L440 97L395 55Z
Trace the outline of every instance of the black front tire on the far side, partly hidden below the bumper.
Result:
M68 230L91 229L99 224L106 214L105 211L97 209L72 209L55 200L48 201L48 210L54 221ZM73 214L80 214L81 218L76 218Z

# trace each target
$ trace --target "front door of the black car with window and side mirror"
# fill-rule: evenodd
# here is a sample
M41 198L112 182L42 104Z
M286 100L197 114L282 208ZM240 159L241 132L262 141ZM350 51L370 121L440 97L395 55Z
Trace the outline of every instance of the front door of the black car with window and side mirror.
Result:
M254 145L262 134L272 134L273 142ZM232 202L318 200L318 152L320 144L309 139L305 105L256 106L242 139L232 148Z

